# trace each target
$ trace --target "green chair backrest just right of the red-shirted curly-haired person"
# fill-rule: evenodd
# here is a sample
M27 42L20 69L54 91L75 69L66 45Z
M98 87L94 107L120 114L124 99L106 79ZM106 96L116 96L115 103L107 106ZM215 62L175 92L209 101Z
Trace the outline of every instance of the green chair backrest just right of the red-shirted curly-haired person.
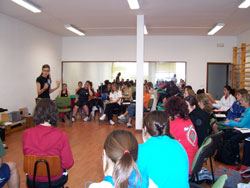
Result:
M206 161L211 153L211 149L213 146L213 140L211 138L206 139L205 142L202 143L199 150L196 152L193 163L192 163L192 174L198 173L204 161Z

